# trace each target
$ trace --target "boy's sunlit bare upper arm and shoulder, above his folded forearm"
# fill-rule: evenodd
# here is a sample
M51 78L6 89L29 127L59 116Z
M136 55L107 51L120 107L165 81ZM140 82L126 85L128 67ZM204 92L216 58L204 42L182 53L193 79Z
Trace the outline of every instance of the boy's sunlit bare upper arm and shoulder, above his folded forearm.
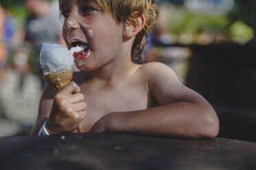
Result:
M196 93L178 80L175 72L166 64L150 62L142 66L148 78L149 92L158 104L171 104L177 101L190 101Z

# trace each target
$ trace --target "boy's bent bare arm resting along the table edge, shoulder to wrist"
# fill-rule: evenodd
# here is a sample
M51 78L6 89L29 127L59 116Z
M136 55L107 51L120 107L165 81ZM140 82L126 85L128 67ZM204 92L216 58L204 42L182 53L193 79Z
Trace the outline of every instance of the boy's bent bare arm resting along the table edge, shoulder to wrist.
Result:
M175 73L160 63L146 64L149 93L160 106L132 112L112 112L94 124L90 132L127 132L184 138L217 136L219 121L211 105L183 86ZM147 76L146 76L147 77Z

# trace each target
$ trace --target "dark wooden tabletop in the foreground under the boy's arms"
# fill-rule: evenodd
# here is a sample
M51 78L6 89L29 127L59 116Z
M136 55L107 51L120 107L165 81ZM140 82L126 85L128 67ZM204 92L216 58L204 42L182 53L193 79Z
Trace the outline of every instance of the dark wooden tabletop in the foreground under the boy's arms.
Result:
M130 134L0 138L0 169L256 169L256 143Z

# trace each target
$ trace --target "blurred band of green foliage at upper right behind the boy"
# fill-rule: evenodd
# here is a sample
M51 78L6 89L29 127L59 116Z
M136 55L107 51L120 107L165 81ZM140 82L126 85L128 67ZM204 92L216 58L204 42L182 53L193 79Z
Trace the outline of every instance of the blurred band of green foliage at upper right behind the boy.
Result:
M246 25L247 19L242 22L242 17L248 16L248 12L243 11L242 7L237 7L228 13L217 14L190 12L183 6L166 3L160 6L160 12L162 21L159 24L164 25L166 31L172 36L173 43L198 43L202 33L211 36L213 41L216 35L221 35L225 42L245 43L253 38L252 29ZM241 23L233 25L237 21ZM239 37L239 40L234 37Z

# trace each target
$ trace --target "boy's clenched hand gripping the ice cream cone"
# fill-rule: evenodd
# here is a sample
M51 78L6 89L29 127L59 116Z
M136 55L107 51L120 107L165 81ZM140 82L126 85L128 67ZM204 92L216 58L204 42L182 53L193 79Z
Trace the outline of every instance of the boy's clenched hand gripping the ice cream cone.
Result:
M46 123L49 134L73 132L85 119L85 97L80 91L76 83L70 82L56 94Z

